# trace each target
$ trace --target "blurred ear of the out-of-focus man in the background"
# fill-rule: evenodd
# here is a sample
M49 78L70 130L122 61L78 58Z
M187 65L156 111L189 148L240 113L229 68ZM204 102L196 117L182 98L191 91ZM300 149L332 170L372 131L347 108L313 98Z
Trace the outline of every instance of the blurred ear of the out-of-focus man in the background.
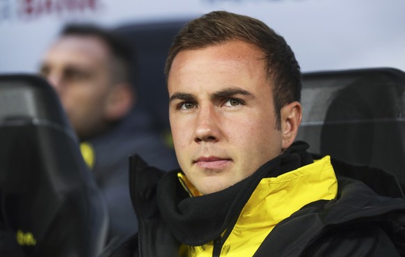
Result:
M128 114L135 103L135 91L129 84L116 84L106 99L104 115L108 121L120 120Z

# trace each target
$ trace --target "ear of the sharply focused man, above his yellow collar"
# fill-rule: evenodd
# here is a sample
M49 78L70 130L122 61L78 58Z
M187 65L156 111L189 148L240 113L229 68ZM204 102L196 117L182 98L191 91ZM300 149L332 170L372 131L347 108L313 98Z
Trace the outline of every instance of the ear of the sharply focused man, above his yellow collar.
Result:
M290 102L280 110L281 132L283 150L289 148L294 142L301 124L302 109L299 102Z

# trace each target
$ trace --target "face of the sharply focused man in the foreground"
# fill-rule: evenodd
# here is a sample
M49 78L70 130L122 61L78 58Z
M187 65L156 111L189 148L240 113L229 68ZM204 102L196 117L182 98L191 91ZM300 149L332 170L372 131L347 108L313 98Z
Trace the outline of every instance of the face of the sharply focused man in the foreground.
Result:
M202 193L247 178L282 152L263 54L241 41L175 56L170 126L182 171Z

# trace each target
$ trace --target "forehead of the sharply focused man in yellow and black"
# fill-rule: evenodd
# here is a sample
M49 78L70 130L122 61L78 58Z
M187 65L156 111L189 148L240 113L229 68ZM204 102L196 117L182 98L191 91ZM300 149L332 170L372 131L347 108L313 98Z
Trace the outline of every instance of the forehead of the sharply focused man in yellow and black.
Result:
M268 84L263 56L258 47L239 40L184 50L173 59L169 93L185 88Z

